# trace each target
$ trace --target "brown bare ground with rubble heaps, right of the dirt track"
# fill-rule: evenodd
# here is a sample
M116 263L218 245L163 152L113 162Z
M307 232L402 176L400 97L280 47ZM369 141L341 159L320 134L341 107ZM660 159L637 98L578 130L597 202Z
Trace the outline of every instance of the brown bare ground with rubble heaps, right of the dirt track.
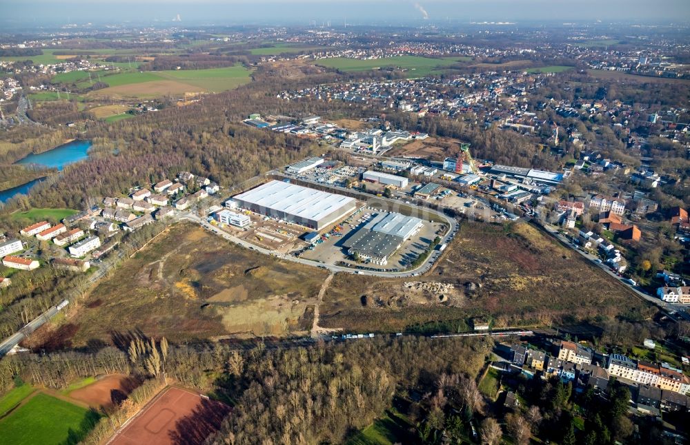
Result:
M464 222L426 276L335 276L319 307L319 326L390 332L428 322L469 324L477 316L496 327L546 326L595 316L648 317L650 310L531 225Z

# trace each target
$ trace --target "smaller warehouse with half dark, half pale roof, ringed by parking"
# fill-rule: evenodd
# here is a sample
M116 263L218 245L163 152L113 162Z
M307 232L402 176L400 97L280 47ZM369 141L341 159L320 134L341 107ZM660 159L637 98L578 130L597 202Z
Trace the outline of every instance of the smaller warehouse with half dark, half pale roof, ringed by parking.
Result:
M380 213L343 243L348 255L376 265L388 264L388 257L424 226L420 218L397 213Z

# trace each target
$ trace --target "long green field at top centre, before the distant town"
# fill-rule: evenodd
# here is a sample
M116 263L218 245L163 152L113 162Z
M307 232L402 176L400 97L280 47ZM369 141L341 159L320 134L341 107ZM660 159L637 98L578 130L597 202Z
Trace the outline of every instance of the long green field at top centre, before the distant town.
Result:
M431 59L420 56L395 56L385 59L346 59L336 57L334 59L322 59L316 62L317 65L326 68L336 68L341 71L367 71L375 68L395 67L408 70L407 74L411 77L423 77L428 74L442 72L444 68L454 65L456 57L448 59Z

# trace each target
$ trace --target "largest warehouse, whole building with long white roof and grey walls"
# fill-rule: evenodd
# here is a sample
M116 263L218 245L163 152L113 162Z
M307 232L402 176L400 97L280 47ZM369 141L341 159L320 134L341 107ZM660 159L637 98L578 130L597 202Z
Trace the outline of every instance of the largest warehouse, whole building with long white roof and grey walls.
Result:
M321 230L355 209L354 198L278 180L233 197L237 207Z

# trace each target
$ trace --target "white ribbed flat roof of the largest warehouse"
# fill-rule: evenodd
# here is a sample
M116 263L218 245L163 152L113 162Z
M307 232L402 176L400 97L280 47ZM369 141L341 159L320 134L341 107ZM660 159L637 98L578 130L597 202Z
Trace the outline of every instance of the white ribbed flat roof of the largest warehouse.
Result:
M315 221L355 202L355 198L321 192L279 180L259 185L234 198Z

